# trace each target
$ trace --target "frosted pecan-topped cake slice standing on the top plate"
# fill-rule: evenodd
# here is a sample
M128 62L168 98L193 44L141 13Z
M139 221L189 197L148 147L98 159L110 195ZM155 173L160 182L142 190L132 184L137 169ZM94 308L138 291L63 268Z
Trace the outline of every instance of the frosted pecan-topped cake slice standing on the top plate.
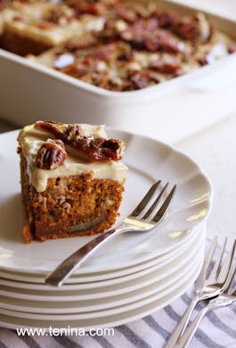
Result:
M38 121L20 130L25 240L102 233L122 200L125 143L104 126Z

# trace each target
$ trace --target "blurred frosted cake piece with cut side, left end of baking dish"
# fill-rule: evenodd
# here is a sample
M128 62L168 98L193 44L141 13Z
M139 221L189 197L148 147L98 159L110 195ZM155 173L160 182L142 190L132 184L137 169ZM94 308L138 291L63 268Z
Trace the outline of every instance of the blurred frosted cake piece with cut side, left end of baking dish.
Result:
M2 17L1 46L14 54L40 54L81 33L80 22L66 4L13 1Z

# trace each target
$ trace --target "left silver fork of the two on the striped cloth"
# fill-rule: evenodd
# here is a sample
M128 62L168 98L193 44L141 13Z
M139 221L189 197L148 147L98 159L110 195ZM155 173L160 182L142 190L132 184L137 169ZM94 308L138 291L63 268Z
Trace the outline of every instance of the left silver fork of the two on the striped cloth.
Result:
M236 248L236 241L234 241L231 252L228 253L222 264L226 244L227 238L225 238L221 251L216 258L214 267L210 271L210 274L208 276L209 265L213 259L214 253L216 252L217 246L217 237L214 238L214 241L212 242L208 250L207 257L200 271L199 278L195 283L195 296L192 298L190 306L183 314L183 318L180 320L177 327L175 327L175 331L169 337L165 348L174 348L177 346L176 343L179 338L183 336L183 332L191 318L192 311L199 301L213 298L224 291L224 284L228 277L229 269L232 266L233 254Z

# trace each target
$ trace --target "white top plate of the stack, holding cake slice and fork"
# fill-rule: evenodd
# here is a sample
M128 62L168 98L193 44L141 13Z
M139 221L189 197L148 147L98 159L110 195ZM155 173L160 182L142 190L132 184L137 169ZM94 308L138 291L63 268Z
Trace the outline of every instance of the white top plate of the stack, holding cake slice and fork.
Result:
M93 236L50 240L25 244L21 228L25 224L20 197L19 158L16 154L18 132L0 136L0 268L13 271L44 273L75 252ZM110 129L110 137L126 141L124 162L129 167L121 218L134 209L147 189L157 179L177 184L169 215L149 233L115 236L94 253L77 274L131 267L175 249L194 235L206 220L211 207L212 188L208 178L183 153L157 140ZM137 189L138 188L138 189Z

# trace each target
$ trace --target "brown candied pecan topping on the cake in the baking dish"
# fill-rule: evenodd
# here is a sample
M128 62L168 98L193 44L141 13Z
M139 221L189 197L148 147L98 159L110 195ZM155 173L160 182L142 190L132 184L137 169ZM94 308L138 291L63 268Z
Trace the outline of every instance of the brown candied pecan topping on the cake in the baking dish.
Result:
M32 0L19 2L31 4ZM56 46L53 69L94 86L113 91L140 89L217 59L211 52L220 40L203 13L182 17L162 11L159 4L152 1L145 4L126 0L49 3L43 14L39 14L40 18L33 19L36 27L46 31L66 27L77 19L85 23L82 35L78 30L73 38ZM0 11L7 6L12 6L12 0L0 0ZM100 18L93 27L90 21L94 16ZM13 21L21 21L20 12ZM225 46L229 54L235 52L232 44L225 41ZM170 54L174 59L165 62L158 57L155 60L153 53Z

